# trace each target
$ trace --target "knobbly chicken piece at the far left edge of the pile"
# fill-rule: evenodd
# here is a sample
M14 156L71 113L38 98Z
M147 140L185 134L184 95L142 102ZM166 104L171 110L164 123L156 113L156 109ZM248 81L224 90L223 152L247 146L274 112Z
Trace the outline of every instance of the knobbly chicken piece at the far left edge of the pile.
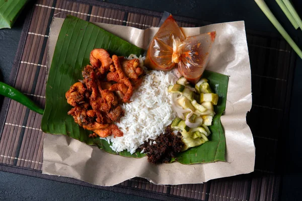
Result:
M81 82L76 82L70 89L65 93L65 97L67 99L67 103L73 107L85 103L84 97L86 93L86 87Z

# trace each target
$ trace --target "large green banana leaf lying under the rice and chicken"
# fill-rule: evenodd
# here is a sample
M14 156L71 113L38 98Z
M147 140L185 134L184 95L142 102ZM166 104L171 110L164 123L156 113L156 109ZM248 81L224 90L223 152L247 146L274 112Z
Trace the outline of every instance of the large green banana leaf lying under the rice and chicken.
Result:
M67 115L71 106L66 102L65 92L74 82L82 79L82 70L84 66L89 64L90 52L94 48L104 48L111 55L116 54L118 56L141 55L144 52L143 49L92 23L68 15L61 27L48 75L46 106L41 129L45 133L66 135L88 145L96 145L111 154L135 158L143 157L145 154L141 154L139 151L132 155L127 151L114 152L106 140L89 138L91 132L75 124L73 118ZM213 125L209 128L212 131L211 142L187 150L173 161L191 164L225 160L225 137L220 116L225 109L228 76L210 71L205 72L204 76L210 80L210 85L220 97L216 107L217 115L213 119ZM217 87L216 84L218 84Z

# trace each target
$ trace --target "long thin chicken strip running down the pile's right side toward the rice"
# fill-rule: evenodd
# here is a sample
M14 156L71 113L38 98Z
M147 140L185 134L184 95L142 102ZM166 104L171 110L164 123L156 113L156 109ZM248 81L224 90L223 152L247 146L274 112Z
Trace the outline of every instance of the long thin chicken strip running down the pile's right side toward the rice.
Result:
M116 55L112 56L112 60L114 63L114 72L109 72L107 74L107 80L108 81L115 81L118 83L124 83L126 86L128 86L128 90L127 92L124 94L123 97L123 102L124 103L128 103L130 102L130 98L133 94L133 88L132 88L132 84L130 82L130 80L128 79L128 77L125 75L120 63L119 63L119 59Z

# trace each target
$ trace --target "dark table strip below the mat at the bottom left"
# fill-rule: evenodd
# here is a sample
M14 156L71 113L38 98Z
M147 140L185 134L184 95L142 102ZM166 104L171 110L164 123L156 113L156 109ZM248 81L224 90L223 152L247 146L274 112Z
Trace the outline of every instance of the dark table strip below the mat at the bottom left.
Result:
M0 178L0 200L154 200L8 172Z

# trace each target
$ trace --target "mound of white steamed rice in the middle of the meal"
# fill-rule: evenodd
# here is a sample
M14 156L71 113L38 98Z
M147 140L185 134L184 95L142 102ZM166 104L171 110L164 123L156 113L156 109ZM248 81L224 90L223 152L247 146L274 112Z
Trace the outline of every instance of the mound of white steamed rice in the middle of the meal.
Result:
M137 57L128 57L132 58ZM140 56L139 60L142 64L144 57ZM111 149L116 152L127 150L133 154L144 141L154 140L163 133L176 117L172 111L168 86L177 77L171 71L144 70L146 75L140 87L134 90L131 103L122 105L125 116L116 123L124 136L107 137L107 141L112 143Z

